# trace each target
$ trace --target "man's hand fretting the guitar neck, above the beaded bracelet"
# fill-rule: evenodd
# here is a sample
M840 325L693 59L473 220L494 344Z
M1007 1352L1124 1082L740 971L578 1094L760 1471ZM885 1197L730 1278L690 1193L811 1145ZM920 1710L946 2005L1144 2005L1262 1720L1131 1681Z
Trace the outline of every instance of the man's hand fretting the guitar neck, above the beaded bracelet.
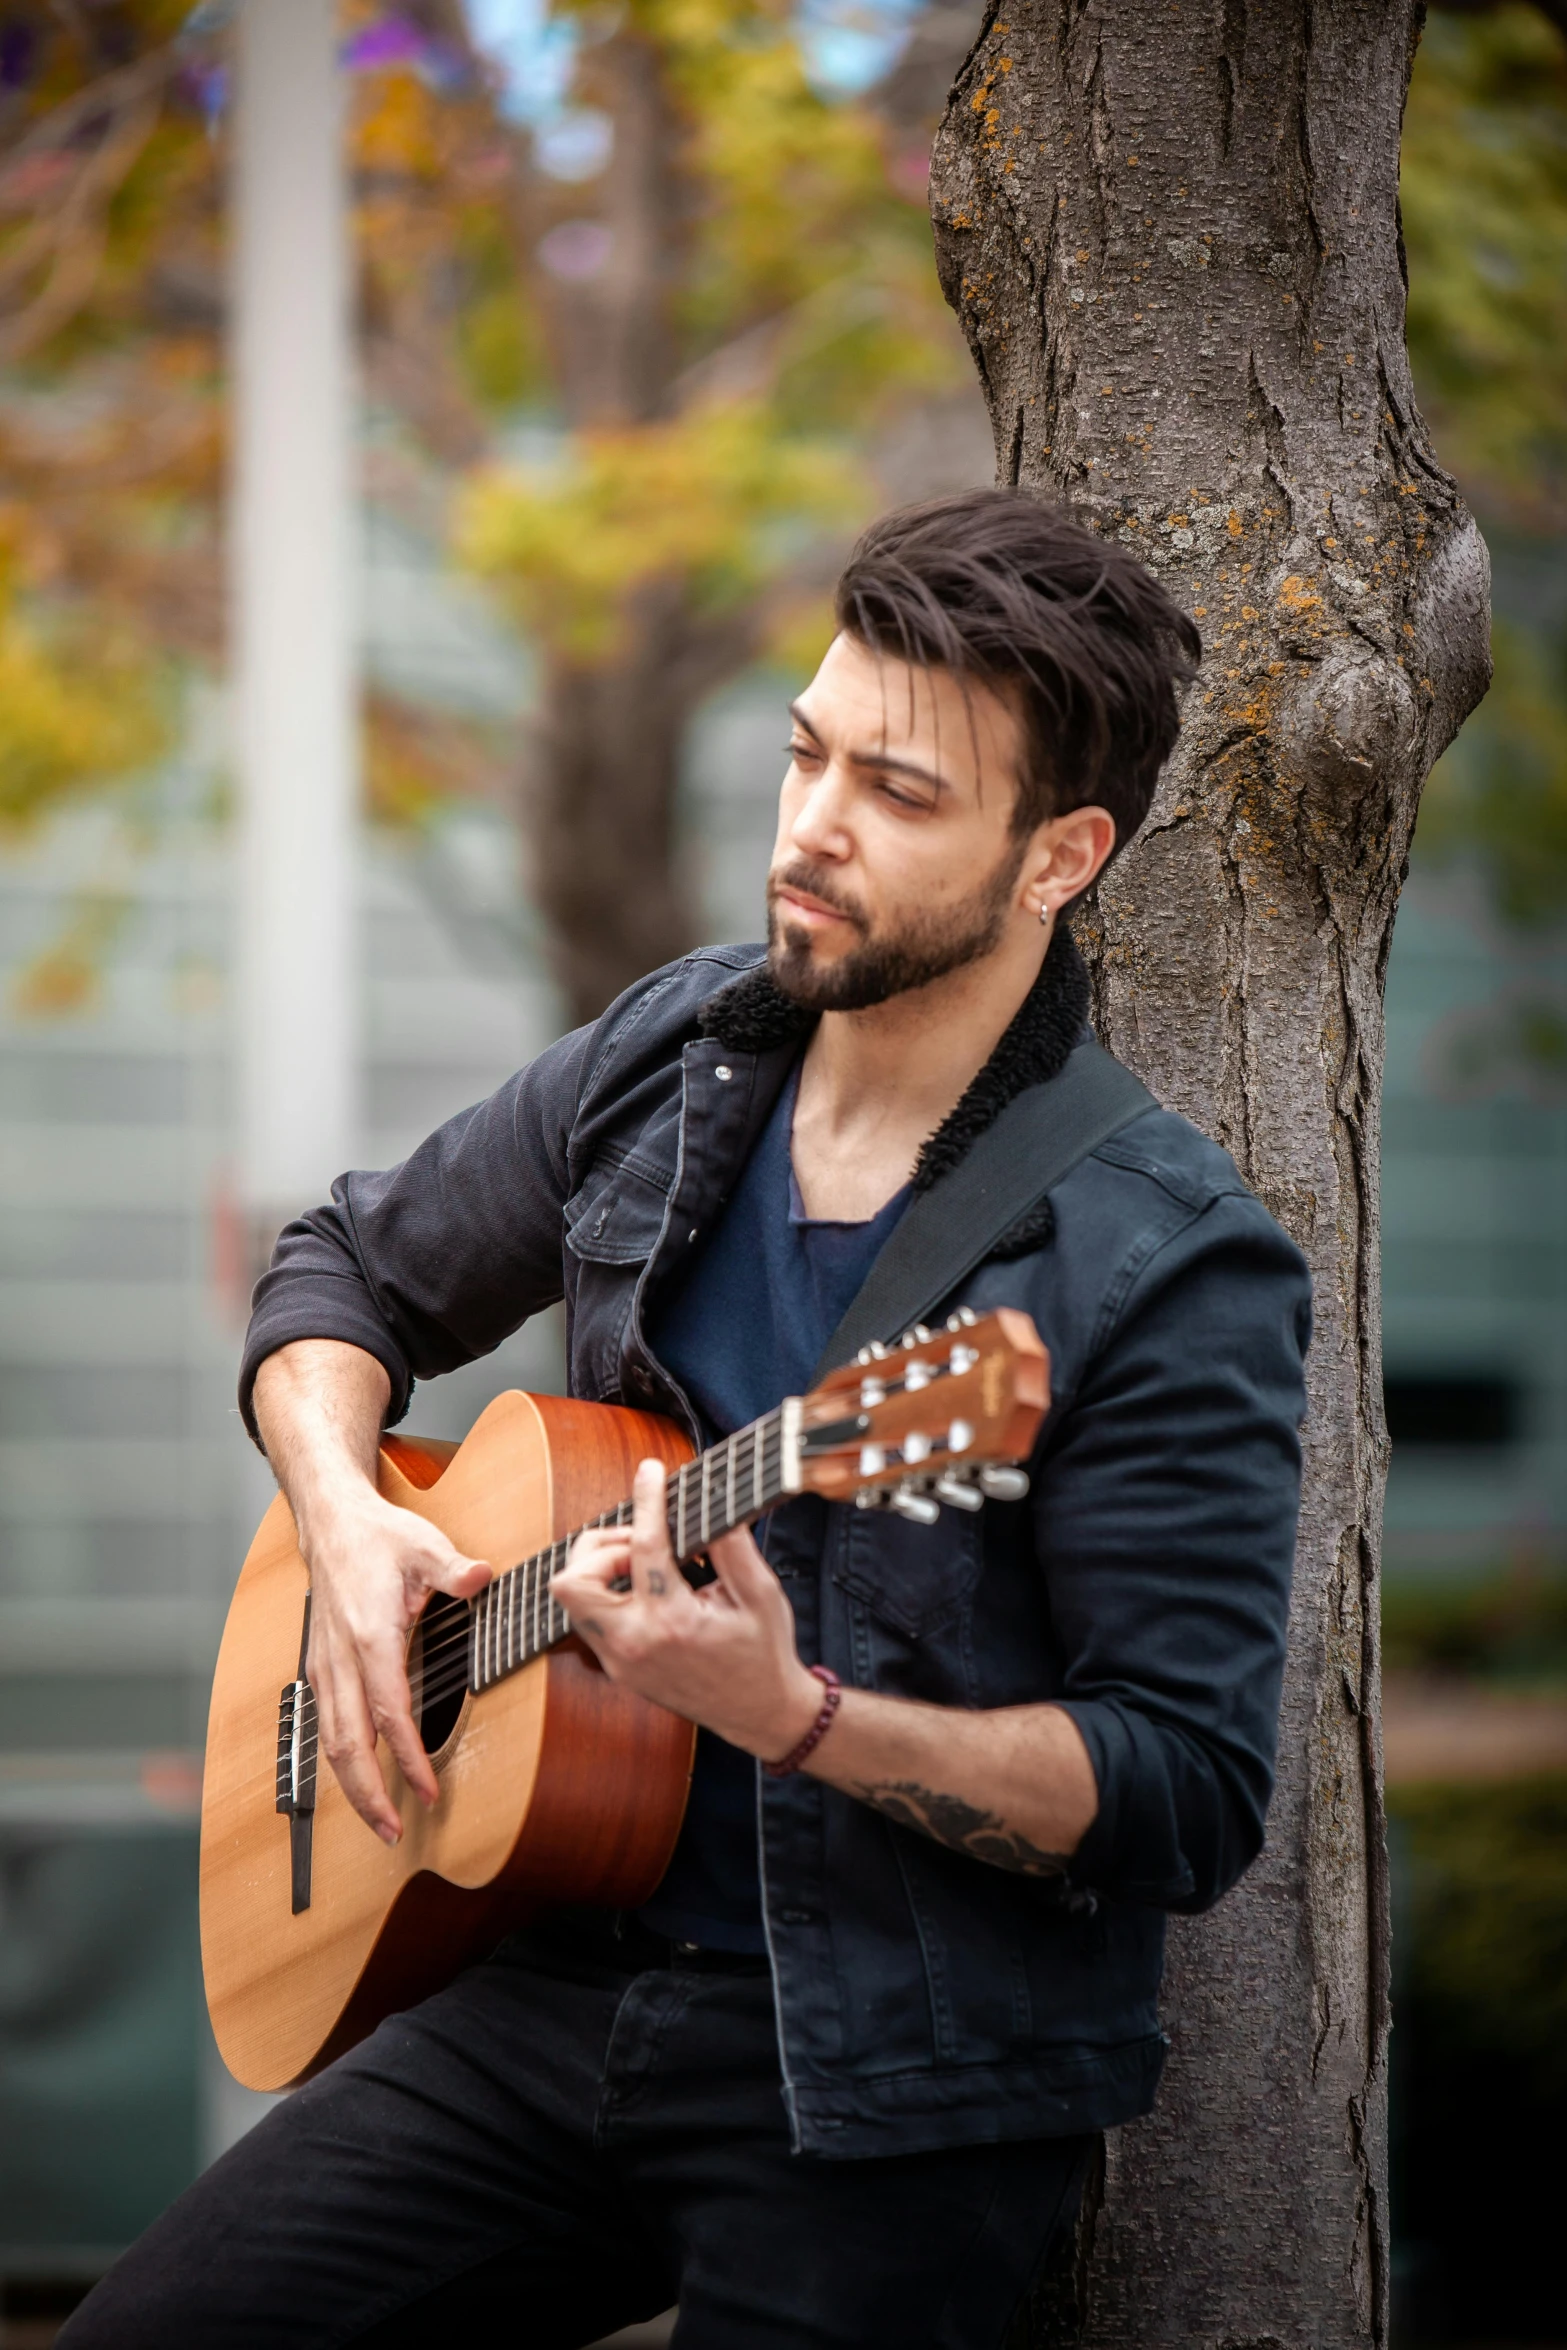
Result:
M665 1469L641 1462L632 1525L578 1535L552 1593L611 1680L778 1762L822 1711L822 1685L799 1661L794 1610L752 1535L721 1535L707 1556L717 1582L693 1591L670 1546Z

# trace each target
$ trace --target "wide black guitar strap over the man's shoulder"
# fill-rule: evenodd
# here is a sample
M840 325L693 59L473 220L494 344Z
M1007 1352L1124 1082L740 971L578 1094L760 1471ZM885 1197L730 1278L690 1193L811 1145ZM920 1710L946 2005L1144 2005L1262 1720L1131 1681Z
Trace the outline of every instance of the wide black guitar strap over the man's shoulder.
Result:
M947 1175L914 1194L811 1384L872 1340L890 1342L933 1314L1062 1175L1156 1107L1149 1088L1092 1036L1074 1046L1064 1069L1015 1095Z

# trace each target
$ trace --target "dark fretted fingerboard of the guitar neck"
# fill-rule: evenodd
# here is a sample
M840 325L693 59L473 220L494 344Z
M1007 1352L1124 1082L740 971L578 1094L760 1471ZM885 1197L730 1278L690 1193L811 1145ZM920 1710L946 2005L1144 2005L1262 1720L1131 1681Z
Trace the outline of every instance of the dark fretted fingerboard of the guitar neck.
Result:
M789 1492L799 1492L799 1398L789 1398L724 1443L698 1452L665 1480L670 1544L681 1565L700 1558L709 1542L761 1518ZM630 1495L587 1525L507 1567L472 1603L468 1683L475 1692L517 1673L571 1631L557 1603L557 1567L578 1535L601 1525L630 1525Z

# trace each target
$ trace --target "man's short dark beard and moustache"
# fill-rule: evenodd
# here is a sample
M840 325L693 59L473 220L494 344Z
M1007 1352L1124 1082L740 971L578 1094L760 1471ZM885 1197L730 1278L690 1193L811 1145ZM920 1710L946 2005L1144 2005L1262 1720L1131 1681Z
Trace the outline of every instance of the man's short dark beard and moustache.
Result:
M773 985L806 1013L862 1013L912 987L944 980L991 954L1006 928L1027 841L1017 841L973 895L940 912L916 912L874 931L865 907L803 858L768 877L768 971ZM811 935L792 931L778 888L820 898L858 933L858 945L827 966L811 959Z

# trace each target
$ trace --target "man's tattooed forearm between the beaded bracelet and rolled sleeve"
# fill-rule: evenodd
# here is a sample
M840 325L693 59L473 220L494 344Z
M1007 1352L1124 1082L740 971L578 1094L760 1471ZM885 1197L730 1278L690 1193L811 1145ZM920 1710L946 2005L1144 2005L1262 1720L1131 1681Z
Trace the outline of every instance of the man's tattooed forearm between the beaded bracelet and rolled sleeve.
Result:
M1060 1706L966 1713L846 1690L806 1770L1022 1875L1060 1875L1099 1810L1088 1748Z

